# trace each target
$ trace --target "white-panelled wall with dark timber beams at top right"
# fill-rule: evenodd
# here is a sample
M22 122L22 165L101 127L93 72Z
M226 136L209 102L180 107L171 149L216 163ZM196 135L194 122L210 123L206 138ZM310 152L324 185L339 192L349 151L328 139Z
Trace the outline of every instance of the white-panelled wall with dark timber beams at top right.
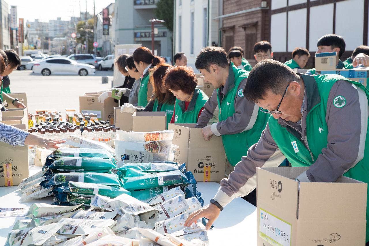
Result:
M295 47L306 47L311 54L307 64L313 67L318 39L325 34L341 35L350 57L359 45L368 45L368 0L278 0L272 1L271 32L274 57L291 59Z

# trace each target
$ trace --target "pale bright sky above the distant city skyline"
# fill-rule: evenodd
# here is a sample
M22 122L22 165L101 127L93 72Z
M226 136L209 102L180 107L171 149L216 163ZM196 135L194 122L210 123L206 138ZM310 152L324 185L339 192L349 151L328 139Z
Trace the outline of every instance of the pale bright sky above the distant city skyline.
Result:
M70 20L71 16L79 17L80 10L86 11L86 0L5 0L10 6L17 6L17 18L24 18L24 22L56 20ZM95 13L99 13L115 0L95 0ZM87 11L93 14L93 0L87 0Z

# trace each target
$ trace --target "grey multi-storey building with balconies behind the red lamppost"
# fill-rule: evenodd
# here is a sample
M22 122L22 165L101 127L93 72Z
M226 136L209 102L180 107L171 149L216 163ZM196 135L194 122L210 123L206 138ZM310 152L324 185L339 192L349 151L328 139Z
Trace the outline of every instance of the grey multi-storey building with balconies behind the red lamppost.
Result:
M151 49L151 23L155 18L158 0L115 0L113 23L114 45L142 44ZM155 24L155 50L157 55L172 57L172 33L164 25Z

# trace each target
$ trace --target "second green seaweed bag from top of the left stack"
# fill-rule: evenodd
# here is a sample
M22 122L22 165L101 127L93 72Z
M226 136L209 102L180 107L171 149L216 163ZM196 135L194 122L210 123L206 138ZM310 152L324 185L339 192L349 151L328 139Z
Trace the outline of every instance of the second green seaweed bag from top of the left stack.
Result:
M111 170L117 167L110 159L91 157L58 157L55 160L47 158L45 166L59 171Z

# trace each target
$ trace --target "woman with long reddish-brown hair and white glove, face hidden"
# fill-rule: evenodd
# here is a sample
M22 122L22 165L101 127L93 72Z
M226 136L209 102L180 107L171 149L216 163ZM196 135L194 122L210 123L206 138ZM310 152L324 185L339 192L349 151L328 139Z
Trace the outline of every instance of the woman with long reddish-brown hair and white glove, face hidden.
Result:
M165 112L168 128L168 124L173 117L174 102L176 98L173 93L169 92L163 85L163 77L165 76L166 70L171 67L172 65L160 63L150 69L150 83L154 87L154 94L146 107L135 107L130 103L124 103L121 107L121 112Z

